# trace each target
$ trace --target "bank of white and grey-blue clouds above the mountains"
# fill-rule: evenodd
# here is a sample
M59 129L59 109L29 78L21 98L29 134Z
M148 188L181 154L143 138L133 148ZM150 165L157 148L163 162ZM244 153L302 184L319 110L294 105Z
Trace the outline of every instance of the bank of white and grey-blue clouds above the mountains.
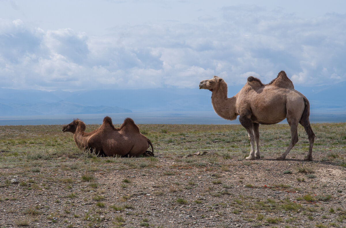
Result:
M203 14L195 23L117 26L99 37L0 19L1 86L195 88L213 75L233 85L250 75L268 83L281 70L294 85L346 80L345 15L300 19L246 5L221 12L221 19Z

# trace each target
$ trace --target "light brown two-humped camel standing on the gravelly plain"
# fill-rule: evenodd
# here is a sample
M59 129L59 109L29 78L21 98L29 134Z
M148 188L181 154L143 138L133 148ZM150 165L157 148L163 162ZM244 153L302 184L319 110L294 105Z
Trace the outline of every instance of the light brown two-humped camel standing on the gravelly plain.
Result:
M231 98L227 98L226 82L217 76L201 81L199 88L212 92L211 103L220 117L235 120L239 115L239 122L247 130L251 143L250 155L246 159L260 158L259 125L279 123L286 118L291 127L291 143L276 159L284 160L298 142L297 128L300 123L307 132L310 142L309 152L304 160L312 161L311 153L315 134L309 121L310 104L306 97L294 90L292 81L284 71L266 85L260 79L248 77L244 87Z

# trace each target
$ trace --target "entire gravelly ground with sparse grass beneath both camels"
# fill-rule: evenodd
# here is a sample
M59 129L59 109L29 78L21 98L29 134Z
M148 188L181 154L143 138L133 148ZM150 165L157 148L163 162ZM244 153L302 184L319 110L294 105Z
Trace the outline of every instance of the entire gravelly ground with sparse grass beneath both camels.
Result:
M260 128L256 160L241 126L140 125L155 157L139 158L83 153L61 126L1 127L0 227L346 227L345 126L313 126L313 162L302 129L275 160L285 125Z

